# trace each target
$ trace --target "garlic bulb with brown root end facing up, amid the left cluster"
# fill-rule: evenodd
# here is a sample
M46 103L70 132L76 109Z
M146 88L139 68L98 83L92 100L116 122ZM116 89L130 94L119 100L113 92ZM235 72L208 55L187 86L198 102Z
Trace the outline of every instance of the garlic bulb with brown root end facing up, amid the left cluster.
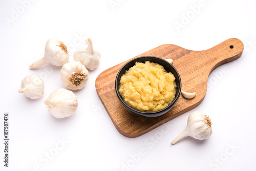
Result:
M71 90L80 90L88 80L88 70L79 61L65 63L60 70L61 81Z

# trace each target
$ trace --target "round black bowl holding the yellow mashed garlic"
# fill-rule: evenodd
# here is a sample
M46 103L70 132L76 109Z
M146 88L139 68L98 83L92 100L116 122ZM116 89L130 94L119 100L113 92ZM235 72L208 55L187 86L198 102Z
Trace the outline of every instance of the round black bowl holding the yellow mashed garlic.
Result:
M119 87L120 87L120 78L123 74L125 74L125 71L129 70L131 67L135 66L135 62L145 63L145 61L158 63L159 65L164 67L166 72L172 72L173 75L176 78L175 81L176 81L176 84L177 84L177 88L176 88L175 99L166 108L164 108L160 111L141 112L141 111L135 110L123 101L122 96L120 95L120 93L118 91ZM161 116L161 115L165 114L166 112L168 112L170 109L173 108L174 104L177 102L177 100L180 96L180 92L181 92L181 79L180 79L180 75L179 75L178 71L174 68L174 66L172 64L170 64L165 59L155 57L155 56L141 56L141 57L134 58L134 59L130 60L129 62L125 63L125 65L119 70L119 72L117 73L117 76L116 76L115 89L116 89L117 97L118 97L119 101L122 103L122 105L124 106L125 109L127 109L131 113L139 115L139 116L157 117L157 116Z

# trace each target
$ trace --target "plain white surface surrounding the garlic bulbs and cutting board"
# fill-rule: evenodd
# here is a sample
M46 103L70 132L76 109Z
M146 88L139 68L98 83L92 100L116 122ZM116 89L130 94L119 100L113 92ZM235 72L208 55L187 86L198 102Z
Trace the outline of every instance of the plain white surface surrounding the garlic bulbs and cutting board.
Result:
M0 170L255 170L255 1L0 4ZM69 61L88 37L102 54L86 86L75 91L76 114L65 119L54 118L43 102L53 90L64 88L61 67L29 70L52 37L67 45ZM116 130L96 93L95 79L101 72L163 44L205 50L232 37L243 41L244 52L210 74L206 96L197 108L137 138ZM30 74L45 81L40 99L18 93L22 79ZM170 146L193 111L211 118L211 137L185 138ZM8 168L2 157L5 112L10 127Z

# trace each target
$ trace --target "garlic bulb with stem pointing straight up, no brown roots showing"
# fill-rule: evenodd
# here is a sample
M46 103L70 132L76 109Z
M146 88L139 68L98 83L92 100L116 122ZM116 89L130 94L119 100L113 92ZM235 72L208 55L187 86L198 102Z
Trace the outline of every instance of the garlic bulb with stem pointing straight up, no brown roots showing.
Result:
M87 39L88 46L77 49L74 53L75 61L80 61L89 70L94 70L99 66L100 52L93 49L92 39Z

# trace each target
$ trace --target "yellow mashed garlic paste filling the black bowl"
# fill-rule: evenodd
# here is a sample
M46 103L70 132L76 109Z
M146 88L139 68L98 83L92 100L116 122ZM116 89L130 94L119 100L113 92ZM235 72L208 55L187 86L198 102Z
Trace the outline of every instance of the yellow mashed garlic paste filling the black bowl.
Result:
M173 102L176 82L158 63L136 62L120 79L119 93L124 102L141 112L155 112Z

